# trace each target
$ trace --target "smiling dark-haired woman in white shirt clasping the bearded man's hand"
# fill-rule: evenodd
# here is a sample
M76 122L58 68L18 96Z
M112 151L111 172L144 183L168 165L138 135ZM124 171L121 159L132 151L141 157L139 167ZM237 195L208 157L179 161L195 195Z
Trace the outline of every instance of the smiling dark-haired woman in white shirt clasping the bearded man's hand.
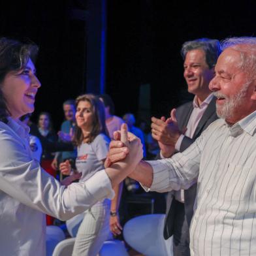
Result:
M132 138L127 161L99 170L86 182L61 185L40 167L29 147L29 128L19 121L33 112L40 88L33 63L35 49L33 44L0 38L1 255L45 255L44 214L66 220L99 200L111 199L112 187L142 158L140 142Z

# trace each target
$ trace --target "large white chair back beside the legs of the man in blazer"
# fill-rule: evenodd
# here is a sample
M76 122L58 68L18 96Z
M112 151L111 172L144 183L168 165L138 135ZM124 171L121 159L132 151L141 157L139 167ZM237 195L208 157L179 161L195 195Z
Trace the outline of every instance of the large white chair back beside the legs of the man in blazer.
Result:
M165 214L138 216L123 227L125 241L146 256L172 256L172 237L163 238Z

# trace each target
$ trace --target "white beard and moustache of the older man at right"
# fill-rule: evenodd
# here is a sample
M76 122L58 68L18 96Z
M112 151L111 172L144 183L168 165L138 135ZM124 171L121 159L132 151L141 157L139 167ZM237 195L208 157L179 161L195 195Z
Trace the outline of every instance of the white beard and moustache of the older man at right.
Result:
M244 84L240 91L230 98L218 91L214 92L214 96L225 98L224 104L221 106L216 104L216 113L219 118L223 118L224 120L232 119L236 110L238 110L242 104L246 104L244 103L244 97L246 96L249 84L250 83Z

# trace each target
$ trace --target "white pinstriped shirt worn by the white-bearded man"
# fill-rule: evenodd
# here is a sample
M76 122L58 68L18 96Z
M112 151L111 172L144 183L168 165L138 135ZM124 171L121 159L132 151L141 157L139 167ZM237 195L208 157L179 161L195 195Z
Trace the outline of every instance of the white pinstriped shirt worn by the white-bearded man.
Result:
M216 120L183 153L149 161L150 190L186 189L198 178L191 255L256 255L256 111L229 127Z

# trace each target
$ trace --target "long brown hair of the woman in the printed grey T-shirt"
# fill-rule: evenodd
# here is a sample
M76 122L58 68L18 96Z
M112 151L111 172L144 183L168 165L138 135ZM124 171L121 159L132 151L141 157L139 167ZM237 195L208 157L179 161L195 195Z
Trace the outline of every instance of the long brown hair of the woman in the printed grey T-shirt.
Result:
M108 135L108 130L106 129L105 123L105 111L103 102L93 94L84 94L80 95L76 98L76 106L80 101L88 101L91 104L91 112L93 114L93 123L91 133L88 135L88 143L93 142L95 137L100 133L104 133L104 135ZM84 135L82 133L82 129L80 129L77 125L74 130L74 144L76 146L80 146L84 141Z

